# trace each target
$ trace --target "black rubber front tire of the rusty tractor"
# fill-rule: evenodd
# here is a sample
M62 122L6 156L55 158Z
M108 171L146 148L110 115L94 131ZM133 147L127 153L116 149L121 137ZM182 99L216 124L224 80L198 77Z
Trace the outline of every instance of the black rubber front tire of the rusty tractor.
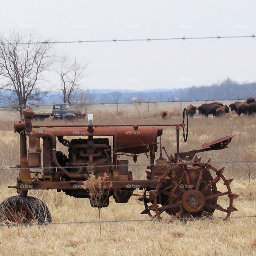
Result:
M50 223L51 213L38 198L16 195L0 204L0 220L5 223Z

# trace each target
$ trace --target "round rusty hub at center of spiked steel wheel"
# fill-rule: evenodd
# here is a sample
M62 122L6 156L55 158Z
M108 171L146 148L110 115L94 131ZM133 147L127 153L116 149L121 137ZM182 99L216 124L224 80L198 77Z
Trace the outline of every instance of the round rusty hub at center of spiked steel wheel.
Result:
M188 190L182 196L182 206L190 213L201 211L205 205L205 197L198 190Z

